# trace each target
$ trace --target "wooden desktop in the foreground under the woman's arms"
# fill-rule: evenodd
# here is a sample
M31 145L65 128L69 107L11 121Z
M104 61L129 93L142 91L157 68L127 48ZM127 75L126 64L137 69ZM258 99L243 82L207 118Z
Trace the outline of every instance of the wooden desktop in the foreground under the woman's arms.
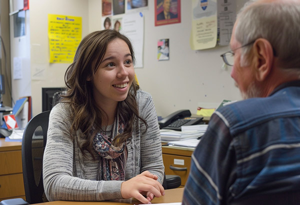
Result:
M173 203L173 202L181 202L183 196L183 188L173 188L173 189L166 189L164 196L160 196L158 198L154 197L151 200L151 203ZM44 203L35 203L35 204L43 204L43 205L73 205L73 204L82 204L82 205L92 205L92 204L99 204L99 205L128 205L128 204L141 204L140 201L136 199L122 199L117 201L64 201L64 200L57 200L51 202L44 202Z

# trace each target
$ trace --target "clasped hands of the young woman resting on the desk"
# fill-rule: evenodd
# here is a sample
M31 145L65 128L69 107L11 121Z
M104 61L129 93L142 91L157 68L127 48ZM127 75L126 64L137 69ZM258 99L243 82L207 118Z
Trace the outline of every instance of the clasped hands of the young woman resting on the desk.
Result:
M164 188L157 181L157 178L156 175L149 171L143 171L133 178L122 182L122 197L134 197L142 203L151 203L150 200L152 200L154 196L159 197L164 195ZM146 198L142 195L142 192L146 193Z

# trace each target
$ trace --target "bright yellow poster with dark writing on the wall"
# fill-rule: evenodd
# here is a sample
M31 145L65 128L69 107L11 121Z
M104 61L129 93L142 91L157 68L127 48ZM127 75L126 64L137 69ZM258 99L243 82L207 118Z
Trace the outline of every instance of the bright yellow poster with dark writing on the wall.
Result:
M81 17L48 14L50 63L73 61L81 31Z

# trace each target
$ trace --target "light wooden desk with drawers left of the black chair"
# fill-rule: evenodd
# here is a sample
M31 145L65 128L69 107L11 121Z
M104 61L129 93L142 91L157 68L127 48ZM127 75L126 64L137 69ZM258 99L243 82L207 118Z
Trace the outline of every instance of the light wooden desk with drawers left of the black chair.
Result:
M21 142L0 138L0 201L8 198L25 199Z

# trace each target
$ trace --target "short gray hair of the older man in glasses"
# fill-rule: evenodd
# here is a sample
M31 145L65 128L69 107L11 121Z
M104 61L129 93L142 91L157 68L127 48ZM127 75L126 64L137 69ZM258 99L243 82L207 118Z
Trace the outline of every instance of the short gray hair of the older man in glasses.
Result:
M271 3L248 1L237 14L235 39L244 45L257 38L267 39L274 55L284 67L300 68L300 3L299 0L281 0ZM247 64L246 55L251 46L242 49L241 64Z

